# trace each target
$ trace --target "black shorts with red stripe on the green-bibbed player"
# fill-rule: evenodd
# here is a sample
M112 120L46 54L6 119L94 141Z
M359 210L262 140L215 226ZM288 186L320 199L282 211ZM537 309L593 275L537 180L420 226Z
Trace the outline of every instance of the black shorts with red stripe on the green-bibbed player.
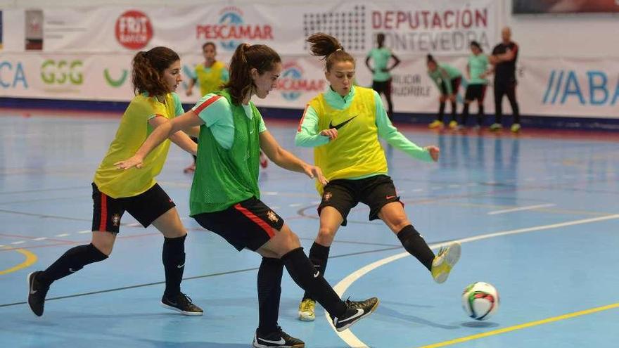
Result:
M253 197L220 212L193 215L200 226L222 236L236 250L256 251L281 231L283 219L261 200Z

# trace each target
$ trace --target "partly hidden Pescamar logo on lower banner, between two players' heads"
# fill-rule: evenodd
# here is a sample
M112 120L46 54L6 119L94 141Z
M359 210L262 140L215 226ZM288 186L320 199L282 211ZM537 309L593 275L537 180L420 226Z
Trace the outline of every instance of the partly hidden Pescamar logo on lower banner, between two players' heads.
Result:
M307 79L303 68L296 62L283 65L281 76L277 80L277 89L287 101L295 101L303 93L321 92L326 88L324 79Z

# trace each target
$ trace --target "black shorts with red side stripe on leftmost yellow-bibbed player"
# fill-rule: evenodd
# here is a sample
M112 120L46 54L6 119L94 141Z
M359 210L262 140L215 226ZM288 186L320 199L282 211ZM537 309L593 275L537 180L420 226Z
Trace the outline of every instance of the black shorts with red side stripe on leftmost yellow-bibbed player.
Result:
M129 212L142 226L148 227L176 205L163 188L155 183L146 192L133 197L111 198L92 183L92 231L118 233L120 218Z

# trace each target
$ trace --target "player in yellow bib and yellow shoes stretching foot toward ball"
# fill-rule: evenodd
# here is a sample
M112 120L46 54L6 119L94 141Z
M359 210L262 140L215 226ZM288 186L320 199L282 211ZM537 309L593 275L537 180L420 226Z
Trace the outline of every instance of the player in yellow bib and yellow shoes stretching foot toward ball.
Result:
M437 161L439 149L421 148L409 141L391 124L378 93L352 84L355 58L336 38L318 33L307 41L314 56L324 57L325 77L330 84L328 91L309 101L295 136L297 146L314 148L314 164L321 167L329 181L324 187L317 185L322 196L318 207L320 227L309 259L324 274L329 247L339 226L346 225L347 214L362 202L370 208L370 220L383 220L404 249L431 271L434 280L444 282L459 259L460 245L452 243L435 256L411 225L388 175L378 137L426 162ZM314 294L305 292L299 305L300 320L313 321L314 306Z

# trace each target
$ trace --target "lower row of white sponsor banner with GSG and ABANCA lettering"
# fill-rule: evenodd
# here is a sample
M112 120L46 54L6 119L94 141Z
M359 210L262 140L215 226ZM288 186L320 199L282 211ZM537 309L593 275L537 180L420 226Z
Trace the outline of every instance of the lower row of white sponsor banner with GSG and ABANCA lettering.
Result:
M0 95L96 101L129 101L132 54L3 53L0 57ZM369 70L357 56L357 84L371 86ZM439 57L442 63L466 67L464 57ZM318 57L282 57L283 71L277 88L255 103L279 108L305 108L328 88L324 61ZM181 57L184 82L177 93L184 103L193 64L199 56ZM518 61L516 95L523 115L618 117L619 63L612 59L522 58ZM466 85L466 78L464 79ZM423 58L407 58L393 70L393 103L396 112L435 112L438 89L426 73ZM195 91L194 91L195 92ZM485 110L493 112L492 83L486 91ZM464 87L459 99L464 96ZM473 109L475 107L473 106ZM504 100L503 110L511 113ZM474 112L474 111L473 111Z

